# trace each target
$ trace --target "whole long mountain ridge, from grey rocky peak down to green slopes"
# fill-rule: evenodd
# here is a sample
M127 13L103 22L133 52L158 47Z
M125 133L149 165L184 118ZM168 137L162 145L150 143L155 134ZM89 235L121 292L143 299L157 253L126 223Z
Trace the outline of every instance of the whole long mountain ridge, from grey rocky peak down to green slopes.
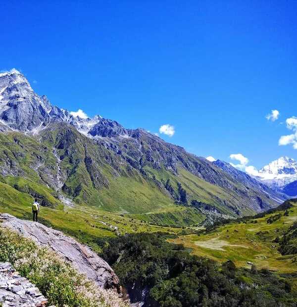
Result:
M123 213L191 206L195 201L237 216L268 209L284 199L281 193L252 183L250 177L187 153L144 129L126 129L100 116L75 117L52 106L16 70L0 74L0 95L1 131L6 131L1 136L0 174L5 183L39 197L42 205L57 205L62 193L107 210L114 201L112 210ZM20 185L20 177L30 183ZM56 191L49 191L54 198L36 192L32 181Z

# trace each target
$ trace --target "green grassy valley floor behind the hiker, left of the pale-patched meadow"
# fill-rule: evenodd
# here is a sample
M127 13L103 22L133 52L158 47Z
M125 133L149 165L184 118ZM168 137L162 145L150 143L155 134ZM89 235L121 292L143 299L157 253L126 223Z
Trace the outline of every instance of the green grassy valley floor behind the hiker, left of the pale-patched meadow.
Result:
M0 183L0 192L3 192L3 198L0 198L0 213L9 213L21 219L32 220L30 196L2 183ZM183 210L184 208L180 206L179 212ZM100 252L100 243L103 238L137 232L161 231L171 234L183 232L182 228L158 226L132 216L110 213L97 207L83 205L59 205L56 208L42 206L38 219L46 226L77 238L97 252Z

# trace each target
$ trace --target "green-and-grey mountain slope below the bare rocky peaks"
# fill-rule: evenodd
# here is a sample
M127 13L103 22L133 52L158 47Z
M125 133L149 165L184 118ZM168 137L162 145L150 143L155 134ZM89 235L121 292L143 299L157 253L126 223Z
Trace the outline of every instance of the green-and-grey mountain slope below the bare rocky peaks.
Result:
M203 158L144 130L129 133L90 139L63 122L37 135L0 133L0 180L50 208L69 198L162 225L198 224L206 215L236 217L277 205L266 191Z

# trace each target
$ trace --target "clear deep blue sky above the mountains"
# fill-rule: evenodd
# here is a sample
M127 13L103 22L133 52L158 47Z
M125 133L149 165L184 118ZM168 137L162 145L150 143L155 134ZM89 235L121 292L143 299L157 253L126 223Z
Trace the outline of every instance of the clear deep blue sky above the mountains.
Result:
M296 1L5 1L0 70L69 110L158 132L202 156L297 158ZM279 110L277 120L265 116Z

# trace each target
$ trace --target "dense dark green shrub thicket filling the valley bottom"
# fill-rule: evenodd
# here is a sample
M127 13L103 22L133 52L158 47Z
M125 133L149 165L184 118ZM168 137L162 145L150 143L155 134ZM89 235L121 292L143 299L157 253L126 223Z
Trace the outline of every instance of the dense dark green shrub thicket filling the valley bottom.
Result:
M164 233L126 234L104 245L102 256L132 302L142 300L150 307L296 306L296 293L276 274L237 268L230 260L220 266L165 239Z

